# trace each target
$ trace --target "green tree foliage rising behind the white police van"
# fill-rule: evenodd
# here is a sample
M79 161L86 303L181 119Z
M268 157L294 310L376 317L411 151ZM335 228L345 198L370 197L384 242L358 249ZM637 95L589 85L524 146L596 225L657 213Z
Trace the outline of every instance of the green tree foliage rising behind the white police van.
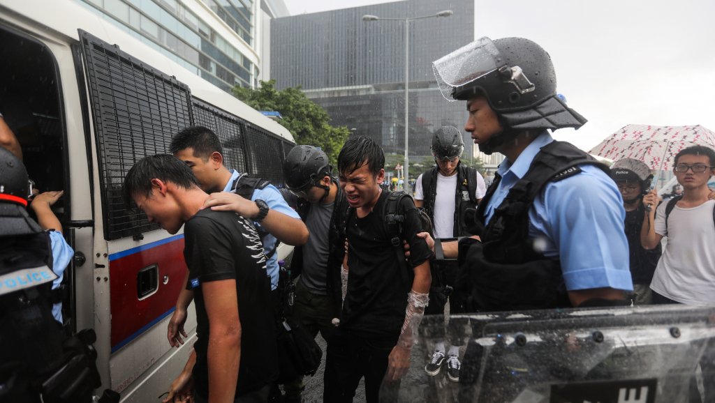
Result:
M325 109L308 99L300 86L278 91L275 80L260 81L257 89L235 86L233 95L259 111L279 112L283 117L279 123L290 130L296 144L320 147L330 158L330 163L337 165L337 154L350 131L345 126L331 126Z

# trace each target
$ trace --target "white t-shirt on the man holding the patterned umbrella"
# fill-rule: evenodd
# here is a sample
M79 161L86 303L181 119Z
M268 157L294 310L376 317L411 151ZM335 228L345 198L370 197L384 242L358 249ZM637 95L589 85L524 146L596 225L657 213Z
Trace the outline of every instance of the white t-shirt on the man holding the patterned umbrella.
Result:
M677 302L715 307L715 200L691 209L677 205L668 217L666 205L656 210L656 234L668 237L651 289Z

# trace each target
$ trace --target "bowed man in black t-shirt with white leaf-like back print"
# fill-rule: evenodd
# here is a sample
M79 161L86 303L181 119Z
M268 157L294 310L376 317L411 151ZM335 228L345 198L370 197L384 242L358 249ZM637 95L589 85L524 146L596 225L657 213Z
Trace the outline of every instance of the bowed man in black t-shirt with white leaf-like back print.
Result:
M147 156L124 179L127 205L170 234L184 226L198 340L164 402L191 394L194 402L267 402L278 369L263 246L250 220L201 209L208 197L169 154Z

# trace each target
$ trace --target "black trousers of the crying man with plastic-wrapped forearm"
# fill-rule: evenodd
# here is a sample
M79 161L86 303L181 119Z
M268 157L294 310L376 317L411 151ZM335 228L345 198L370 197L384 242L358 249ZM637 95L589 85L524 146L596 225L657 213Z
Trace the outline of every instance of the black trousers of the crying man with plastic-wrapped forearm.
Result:
M336 332L327 344L323 402L352 403L360 378L365 378L365 401L397 402L400 381L385 382L388 357L396 337L356 337Z

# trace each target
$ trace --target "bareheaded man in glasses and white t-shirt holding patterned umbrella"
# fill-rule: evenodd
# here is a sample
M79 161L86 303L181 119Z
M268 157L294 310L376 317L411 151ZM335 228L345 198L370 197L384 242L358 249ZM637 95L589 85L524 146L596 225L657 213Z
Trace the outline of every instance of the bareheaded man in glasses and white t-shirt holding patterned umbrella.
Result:
M668 237L651 282L653 302L715 307L715 201L707 185L715 175L715 151L704 146L683 149L675 156L674 171L683 186L682 198L672 199L671 209L671 202L651 209L641 231L646 249ZM654 190L643 204L656 206L659 200Z

